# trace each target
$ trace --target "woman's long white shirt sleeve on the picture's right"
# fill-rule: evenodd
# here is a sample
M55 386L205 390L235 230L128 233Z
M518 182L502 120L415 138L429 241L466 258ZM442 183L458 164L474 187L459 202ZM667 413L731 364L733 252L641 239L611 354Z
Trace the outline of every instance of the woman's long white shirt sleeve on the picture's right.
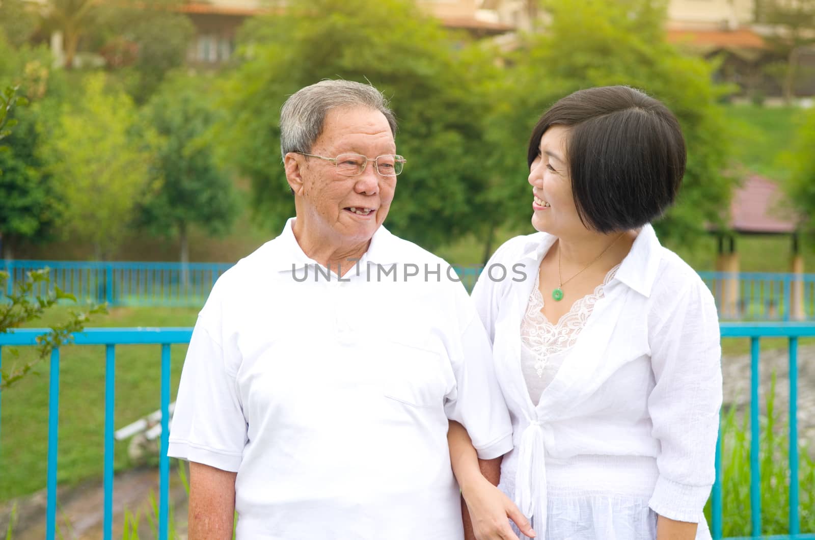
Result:
M649 506L660 516L697 523L715 478L722 400L716 306L699 281L665 294L650 330L655 386L648 399L659 440L659 477Z

